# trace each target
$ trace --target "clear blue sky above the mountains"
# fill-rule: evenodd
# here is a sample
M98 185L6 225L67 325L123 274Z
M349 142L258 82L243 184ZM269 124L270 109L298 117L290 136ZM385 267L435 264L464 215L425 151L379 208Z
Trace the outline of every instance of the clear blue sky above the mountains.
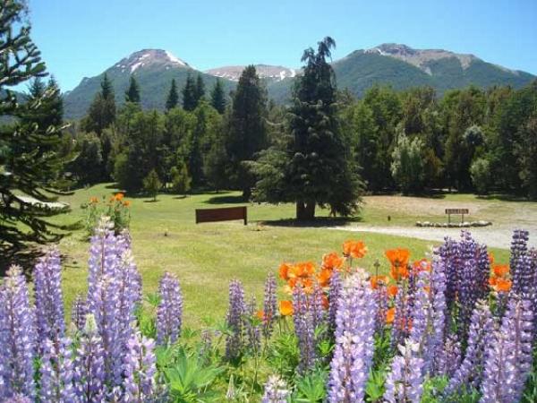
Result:
M142 48L206 70L300 65L330 35L334 58L384 42L473 53L537 74L537 0L29 0L32 37L62 90Z

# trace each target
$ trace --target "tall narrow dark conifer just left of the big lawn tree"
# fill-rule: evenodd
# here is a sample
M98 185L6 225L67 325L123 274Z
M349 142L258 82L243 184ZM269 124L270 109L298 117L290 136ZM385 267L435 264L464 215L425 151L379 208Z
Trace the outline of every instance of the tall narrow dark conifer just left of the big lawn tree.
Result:
M227 154L235 187L243 191L247 200L255 179L244 161L254 159L267 146L265 126L266 97L260 77L253 65L247 66L234 92L230 117Z

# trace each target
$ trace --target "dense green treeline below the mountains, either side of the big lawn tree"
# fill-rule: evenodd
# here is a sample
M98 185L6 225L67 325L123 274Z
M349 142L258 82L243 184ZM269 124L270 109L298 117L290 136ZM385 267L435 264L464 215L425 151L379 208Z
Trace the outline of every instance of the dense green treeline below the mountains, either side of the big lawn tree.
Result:
M219 82L207 93L200 76L189 77L181 92L171 82L166 113L142 111L132 78L127 102L116 110L105 77L72 129L72 177L79 184L112 179L139 192L154 171L179 192L192 185L249 196L256 178L244 161L290 135L288 109L268 102L253 66L230 105ZM449 90L441 99L430 87L375 86L362 99L339 90L337 121L371 192L451 188L537 198L537 81L522 90Z

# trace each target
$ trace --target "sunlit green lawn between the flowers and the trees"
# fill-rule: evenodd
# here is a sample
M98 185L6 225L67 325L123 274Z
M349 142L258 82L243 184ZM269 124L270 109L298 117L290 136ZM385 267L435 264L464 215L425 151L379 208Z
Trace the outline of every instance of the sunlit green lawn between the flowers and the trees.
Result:
M83 219L85 212L80 208L81 203L89 201L91 196L113 192L111 185L99 184L63 198L71 204L72 212L62 216L61 221ZM268 271L276 272L281 262L320 262L323 253L340 252L341 244L347 239L362 239L368 245L369 253L359 262L362 267L371 268L373 262L379 260L382 270L388 270L388 261L384 258L386 249L405 247L417 260L434 244L400 236L329 229L327 226L333 222L328 219L321 220L315 227L293 227L286 221L294 217L293 205L248 204L248 226L243 226L242 221L194 223L194 209L236 205L240 202L238 196L238 193L205 193L178 198L162 194L156 202L129 198L132 201L132 247L141 270L144 293L157 290L158 279L164 271L176 273L183 287L185 322L192 327L197 327L205 318L223 317L230 279L241 279L247 294L255 294L260 301ZM384 224L387 214L391 214L391 222L412 225L417 217L385 204L368 199L362 219L353 224ZM318 215L326 217L327 214L328 211L319 211ZM65 256L64 296L69 309L74 296L86 291L89 243L83 239L82 232L78 232L64 238L60 248ZM507 262L507 251L494 250L494 253L497 260Z

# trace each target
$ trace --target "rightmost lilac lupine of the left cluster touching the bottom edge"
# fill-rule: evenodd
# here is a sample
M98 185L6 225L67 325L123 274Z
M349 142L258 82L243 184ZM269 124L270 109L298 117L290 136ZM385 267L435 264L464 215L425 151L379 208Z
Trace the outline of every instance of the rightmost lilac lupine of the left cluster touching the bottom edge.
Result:
M127 341L124 356L124 402L145 403L155 401L156 357L155 341L133 333Z

